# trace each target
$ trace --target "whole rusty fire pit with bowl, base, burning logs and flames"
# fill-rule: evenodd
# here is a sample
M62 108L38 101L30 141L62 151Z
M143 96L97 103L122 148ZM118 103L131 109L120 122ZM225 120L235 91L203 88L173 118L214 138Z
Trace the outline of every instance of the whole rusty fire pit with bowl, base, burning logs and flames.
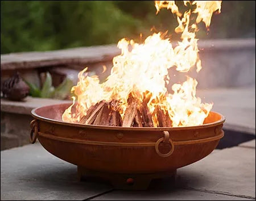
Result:
M50 153L77 165L79 177L109 179L117 189L146 189L151 179L174 177L177 168L207 156L224 136L224 117L211 112L213 103L196 97L196 79L167 89L168 69L199 72L197 24L209 27L221 1L184 1L193 6L181 14L174 1L156 1L156 10L177 15L181 41L173 47L166 33L144 43L122 39L121 55L105 82L89 77L87 68L72 87L73 104L36 108L31 142L36 138ZM197 14L196 22L190 16ZM174 75L175 76L175 75Z

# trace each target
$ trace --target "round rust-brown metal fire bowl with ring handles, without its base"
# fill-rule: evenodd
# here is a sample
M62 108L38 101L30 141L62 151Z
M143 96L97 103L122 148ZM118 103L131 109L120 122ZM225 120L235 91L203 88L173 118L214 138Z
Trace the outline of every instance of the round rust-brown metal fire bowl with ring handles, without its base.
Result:
M155 175L199 161L224 136L224 116L210 112L204 125L176 128L128 128L66 123L70 104L32 110L31 142L36 138L56 157L86 172Z

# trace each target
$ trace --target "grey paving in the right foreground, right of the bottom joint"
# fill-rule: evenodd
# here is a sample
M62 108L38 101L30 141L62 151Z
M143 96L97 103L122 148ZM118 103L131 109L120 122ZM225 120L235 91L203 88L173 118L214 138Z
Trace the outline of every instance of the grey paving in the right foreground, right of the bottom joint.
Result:
M255 200L255 149L214 150L178 169L175 186L158 179L147 191L114 190L95 200Z

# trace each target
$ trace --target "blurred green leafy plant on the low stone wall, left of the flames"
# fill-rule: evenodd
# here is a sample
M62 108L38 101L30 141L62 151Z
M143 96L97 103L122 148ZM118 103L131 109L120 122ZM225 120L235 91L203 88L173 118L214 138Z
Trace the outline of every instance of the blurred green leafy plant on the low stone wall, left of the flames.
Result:
M23 79L24 82L30 87L30 95L32 97L40 98L53 98L53 99L65 99L71 94L71 88L73 82L69 78L65 78L64 81L56 88L52 86L52 77L49 72L46 73L46 81L44 81L42 89Z

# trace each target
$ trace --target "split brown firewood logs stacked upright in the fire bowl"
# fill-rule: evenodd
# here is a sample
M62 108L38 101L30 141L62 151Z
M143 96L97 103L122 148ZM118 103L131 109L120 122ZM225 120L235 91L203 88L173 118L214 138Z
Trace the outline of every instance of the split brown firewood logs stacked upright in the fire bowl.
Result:
M117 127L154 127L147 102L147 99L139 102L138 99L129 97L127 100L128 106L122 119L119 111L115 110L115 103L101 101L90 107L79 123ZM156 106L155 113L159 122L158 127L172 126L168 111L163 111L160 106Z

